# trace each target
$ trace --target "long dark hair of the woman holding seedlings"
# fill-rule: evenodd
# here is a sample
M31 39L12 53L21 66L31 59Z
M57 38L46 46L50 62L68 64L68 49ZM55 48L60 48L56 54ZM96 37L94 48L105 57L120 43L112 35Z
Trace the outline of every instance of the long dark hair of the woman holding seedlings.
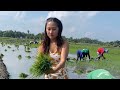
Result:
M43 48L44 48L44 53L46 53L46 54L49 53L49 49L50 49L50 38L47 36L47 32L46 32L47 23L50 21L55 22L59 29L58 36L57 36L57 47L60 48L64 42L64 40L61 36L62 30L63 30L62 22L59 19L54 18L54 17L48 18L46 20L46 24L45 24L45 31L44 31L45 33L44 33L44 39L43 39Z

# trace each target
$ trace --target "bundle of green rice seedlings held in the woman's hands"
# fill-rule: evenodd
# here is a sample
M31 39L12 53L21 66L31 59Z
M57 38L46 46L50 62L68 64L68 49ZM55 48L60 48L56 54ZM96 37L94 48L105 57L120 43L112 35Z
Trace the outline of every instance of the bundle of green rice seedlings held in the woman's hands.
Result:
M35 77L40 77L45 74L52 66L51 58L47 54L38 54L35 62L30 68L30 73Z

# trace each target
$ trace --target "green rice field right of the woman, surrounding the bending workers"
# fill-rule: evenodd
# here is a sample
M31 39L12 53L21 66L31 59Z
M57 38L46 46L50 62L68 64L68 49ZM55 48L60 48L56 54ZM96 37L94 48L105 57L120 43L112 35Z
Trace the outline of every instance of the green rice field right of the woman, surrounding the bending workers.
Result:
M95 58L97 57L97 49L98 47L105 47L109 49L108 53L105 53L104 56L106 57L105 60L102 58L99 61L95 61ZM91 60L90 62L86 61L78 61L75 60L68 61L68 65L75 66L74 72L81 74L86 72L87 68L92 69L106 69L110 71L113 75L120 75L120 47L112 47L112 46L106 46L106 45L98 45L98 44L74 44L70 43L70 50L69 52L72 54L76 54L76 51L79 49L88 48L90 50ZM82 68L82 69L81 69Z

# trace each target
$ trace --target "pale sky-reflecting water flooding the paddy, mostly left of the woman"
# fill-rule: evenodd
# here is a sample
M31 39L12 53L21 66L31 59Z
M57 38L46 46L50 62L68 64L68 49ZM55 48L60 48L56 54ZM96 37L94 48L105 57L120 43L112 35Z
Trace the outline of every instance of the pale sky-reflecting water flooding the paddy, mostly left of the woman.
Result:
M8 46L11 48L8 48ZM5 51L5 49L7 51ZM35 60L37 49L32 48L30 51L30 53L25 52L24 46L19 46L19 49L17 49L14 45L5 45L2 47L0 44L0 53L4 54L3 62L5 63L8 72L10 73L10 79L19 79L20 73L26 73L30 75L29 68ZM22 58L18 59L18 55L21 55ZM31 56L31 58L28 59L26 56ZM69 54L69 57L75 58L76 56ZM78 74L73 73L73 69L74 68L68 67L68 74L70 79L86 78L85 75L80 77ZM43 76L40 78L43 79Z

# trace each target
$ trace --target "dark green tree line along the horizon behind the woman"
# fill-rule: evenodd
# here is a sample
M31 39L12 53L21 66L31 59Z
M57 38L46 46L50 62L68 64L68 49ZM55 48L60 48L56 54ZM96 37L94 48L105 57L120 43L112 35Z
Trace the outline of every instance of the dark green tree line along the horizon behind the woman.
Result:
M0 30L0 37L11 37L11 38L27 38L27 39L36 39L36 40L42 40L44 37L44 33L38 33L37 35L34 35L30 33L29 30L27 30L26 33L20 32L20 31L13 31L13 30L7 30L2 31ZM111 41L111 42L102 42L97 39L90 39L87 37L84 38L66 38L65 36L62 36L64 39L67 39L69 42L73 43L90 43L90 44L100 44L100 45L112 45L114 47L119 46L120 47L120 41Z

